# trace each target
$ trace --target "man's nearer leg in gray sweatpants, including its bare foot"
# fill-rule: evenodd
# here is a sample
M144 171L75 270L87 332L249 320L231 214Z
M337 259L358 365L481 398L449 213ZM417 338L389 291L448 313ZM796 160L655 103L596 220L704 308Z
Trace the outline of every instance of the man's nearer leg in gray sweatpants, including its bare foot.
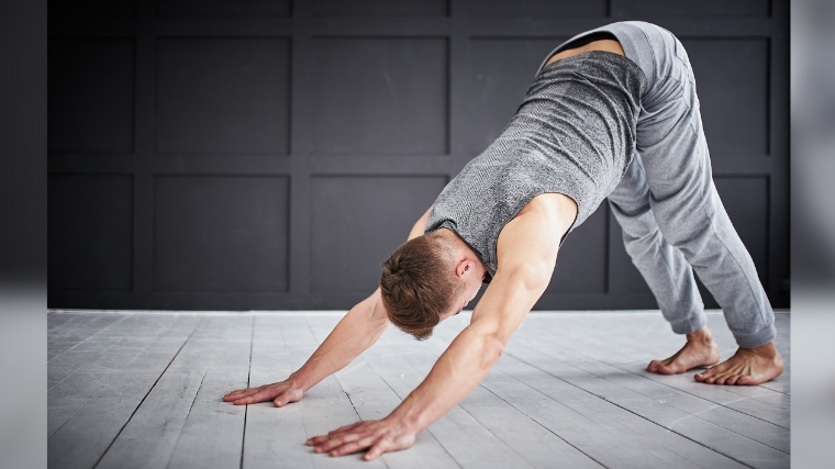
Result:
M757 384L783 368L772 342L773 312L713 183L687 53L672 34L657 27L647 33L650 53L637 59L652 58L648 68L656 75L642 102L637 150L649 186L649 206L664 238L681 250L722 306L741 347L731 359L695 378Z

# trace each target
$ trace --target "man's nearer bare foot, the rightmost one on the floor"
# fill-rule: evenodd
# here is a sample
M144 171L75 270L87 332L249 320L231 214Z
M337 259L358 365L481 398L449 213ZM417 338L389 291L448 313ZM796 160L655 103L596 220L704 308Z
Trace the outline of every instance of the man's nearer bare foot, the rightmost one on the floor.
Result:
M733 357L694 378L706 384L756 386L780 376L783 366L775 343L769 342L757 348L739 347Z

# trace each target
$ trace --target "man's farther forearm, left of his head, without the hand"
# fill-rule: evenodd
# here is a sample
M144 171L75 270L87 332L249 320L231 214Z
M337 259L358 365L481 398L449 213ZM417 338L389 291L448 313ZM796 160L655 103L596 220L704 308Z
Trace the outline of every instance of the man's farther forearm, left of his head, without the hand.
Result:
M385 313L381 313L381 308L379 290L352 308L290 379L307 391L345 368L386 331L388 320Z

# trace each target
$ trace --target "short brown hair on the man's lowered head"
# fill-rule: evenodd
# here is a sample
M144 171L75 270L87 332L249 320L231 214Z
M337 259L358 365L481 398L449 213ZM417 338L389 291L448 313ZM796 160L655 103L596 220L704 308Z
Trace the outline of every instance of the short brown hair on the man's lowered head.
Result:
M417 340L432 335L453 300L453 244L436 233L412 238L382 264L382 304L391 321Z

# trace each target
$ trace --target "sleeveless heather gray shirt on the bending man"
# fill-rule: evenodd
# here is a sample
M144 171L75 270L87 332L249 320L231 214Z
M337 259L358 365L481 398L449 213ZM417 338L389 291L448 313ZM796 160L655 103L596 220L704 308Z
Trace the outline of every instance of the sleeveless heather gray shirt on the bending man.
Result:
M499 138L435 200L425 233L441 227L456 233L491 278L499 233L534 197L558 192L574 199L572 231L628 167L645 87L634 62L608 52L587 52L543 68Z

